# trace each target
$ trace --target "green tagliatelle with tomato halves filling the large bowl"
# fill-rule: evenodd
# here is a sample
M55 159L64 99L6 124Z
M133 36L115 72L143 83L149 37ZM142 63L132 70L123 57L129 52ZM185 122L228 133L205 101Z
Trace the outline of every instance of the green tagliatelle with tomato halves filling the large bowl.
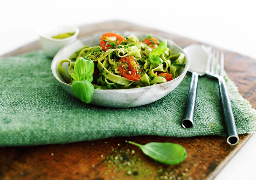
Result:
M66 83L72 85L74 81L83 81L80 84L84 89L91 88L86 88L88 82L94 89L137 88L166 83L178 77L185 66L184 54L173 54L166 40L160 43L150 35L140 41L135 36L123 38L120 34L106 33L99 42L99 46L85 46L74 52L70 59L59 62L58 72ZM75 73L74 66L80 58L94 63L92 76ZM65 66L69 68L66 70Z

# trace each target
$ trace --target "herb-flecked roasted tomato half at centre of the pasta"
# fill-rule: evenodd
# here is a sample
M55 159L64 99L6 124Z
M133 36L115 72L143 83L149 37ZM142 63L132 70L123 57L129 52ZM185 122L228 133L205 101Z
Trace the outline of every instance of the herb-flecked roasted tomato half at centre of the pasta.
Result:
M122 57L118 63L118 70L127 79L133 81L141 79L141 68L134 56Z

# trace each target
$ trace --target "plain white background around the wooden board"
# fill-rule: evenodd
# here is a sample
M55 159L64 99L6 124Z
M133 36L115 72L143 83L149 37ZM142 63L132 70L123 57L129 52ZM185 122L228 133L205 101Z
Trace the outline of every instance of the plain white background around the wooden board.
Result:
M118 19L256 58L255 8L253 0L1 1L0 55L37 40L35 30L41 25L79 26ZM255 151L253 136L216 180L256 179Z

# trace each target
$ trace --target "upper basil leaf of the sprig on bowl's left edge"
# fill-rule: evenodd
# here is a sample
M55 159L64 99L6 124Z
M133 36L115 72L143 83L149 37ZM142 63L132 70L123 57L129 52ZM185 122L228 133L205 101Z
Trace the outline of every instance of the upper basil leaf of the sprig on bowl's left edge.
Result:
M87 57L79 57L74 65L74 72L77 76L87 74L92 76L94 71L94 63Z

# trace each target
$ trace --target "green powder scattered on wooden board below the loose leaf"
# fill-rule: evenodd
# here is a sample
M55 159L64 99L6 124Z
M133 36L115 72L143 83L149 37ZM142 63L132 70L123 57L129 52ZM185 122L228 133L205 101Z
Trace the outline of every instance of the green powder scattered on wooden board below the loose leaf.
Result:
M171 170L168 165L155 162L156 166L148 166L146 161L143 161L134 150L115 150L113 154L103 157L103 164L106 164L109 172L117 173L118 175L125 175L127 178L141 179L155 176L157 180L161 179L184 179L187 175L186 170L180 172L179 170ZM114 170L113 170L114 169ZM112 171L113 170L113 171ZM187 170L188 171L188 170Z

